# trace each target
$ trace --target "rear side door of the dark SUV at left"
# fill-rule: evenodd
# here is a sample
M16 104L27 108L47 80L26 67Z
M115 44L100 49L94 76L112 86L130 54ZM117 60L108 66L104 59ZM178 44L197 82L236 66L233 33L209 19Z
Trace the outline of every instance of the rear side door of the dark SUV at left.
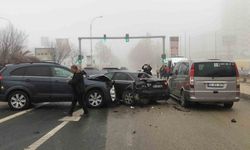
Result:
M24 81L28 89L32 90L33 99L47 101L51 99L51 69L46 65L32 65L25 67Z

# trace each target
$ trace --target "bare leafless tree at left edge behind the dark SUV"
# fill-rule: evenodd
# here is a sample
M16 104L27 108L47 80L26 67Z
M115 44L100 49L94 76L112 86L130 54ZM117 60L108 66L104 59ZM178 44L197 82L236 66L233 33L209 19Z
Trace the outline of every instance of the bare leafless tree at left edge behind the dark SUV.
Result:
M0 30L0 64L38 61L26 49L27 35L9 25Z

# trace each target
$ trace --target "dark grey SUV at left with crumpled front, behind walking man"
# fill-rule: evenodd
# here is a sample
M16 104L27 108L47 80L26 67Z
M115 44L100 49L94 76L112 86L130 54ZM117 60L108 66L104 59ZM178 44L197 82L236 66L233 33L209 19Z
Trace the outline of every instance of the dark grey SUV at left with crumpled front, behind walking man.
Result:
M71 71L55 63L21 63L0 71L0 101L22 110L32 103L62 102L72 99L68 81ZM113 82L103 76L85 78L85 98L89 107L101 107L115 100Z

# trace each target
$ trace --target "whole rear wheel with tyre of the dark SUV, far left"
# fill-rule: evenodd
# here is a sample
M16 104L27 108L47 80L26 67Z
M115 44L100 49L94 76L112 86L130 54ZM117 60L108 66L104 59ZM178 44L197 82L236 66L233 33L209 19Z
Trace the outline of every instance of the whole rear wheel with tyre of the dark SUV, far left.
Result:
M24 110L31 105L28 95L22 91L12 92L8 97L8 104L13 110Z

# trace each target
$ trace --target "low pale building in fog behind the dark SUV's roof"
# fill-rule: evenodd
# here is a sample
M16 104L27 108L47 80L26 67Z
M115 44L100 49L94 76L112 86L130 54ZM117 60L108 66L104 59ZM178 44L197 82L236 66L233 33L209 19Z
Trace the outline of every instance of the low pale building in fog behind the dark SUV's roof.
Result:
M55 61L55 49L35 48L35 56L41 61Z

